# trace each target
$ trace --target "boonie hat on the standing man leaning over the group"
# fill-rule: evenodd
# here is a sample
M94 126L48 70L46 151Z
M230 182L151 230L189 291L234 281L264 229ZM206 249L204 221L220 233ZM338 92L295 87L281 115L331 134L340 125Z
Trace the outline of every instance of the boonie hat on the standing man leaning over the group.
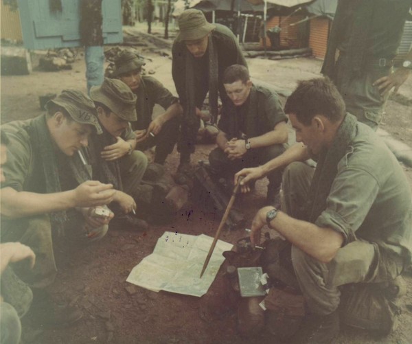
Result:
M177 41L194 41L203 38L212 30L216 29L216 25L208 23L205 14L200 10L191 8L185 10L177 19L179 24L179 35Z

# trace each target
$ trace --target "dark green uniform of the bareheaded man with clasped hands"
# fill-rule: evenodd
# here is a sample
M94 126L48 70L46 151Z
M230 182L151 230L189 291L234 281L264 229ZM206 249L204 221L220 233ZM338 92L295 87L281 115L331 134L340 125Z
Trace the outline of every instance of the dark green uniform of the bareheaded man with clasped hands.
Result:
M242 106L235 106L233 102L228 102L222 108L218 128L227 134L228 139L233 137L244 139L264 135L273 130L279 122L287 122L287 120L288 117L277 95L266 87L253 85L249 97ZM229 160L227 154L218 147L210 152L209 162L216 171L224 171L229 178L233 178L233 174L242 168L263 165L282 152L284 152L284 145L274 144L248 150L242 159ZM271 201L282 181L282 171L271 172L268 174L268 180L268 201Z

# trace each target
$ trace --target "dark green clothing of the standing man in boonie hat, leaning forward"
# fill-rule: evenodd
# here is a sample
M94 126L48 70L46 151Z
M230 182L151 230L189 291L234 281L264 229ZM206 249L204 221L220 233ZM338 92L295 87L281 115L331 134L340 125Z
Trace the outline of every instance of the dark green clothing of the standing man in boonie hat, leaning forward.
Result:
M172 76L179 101L183 106L181 140L178 143L178 150L182 155L194 152L196 144L200 119L194 113L194 106L201 109L209 91L211 113L217 116L218 93L223 106L230 102L222 83L225 69L231 65L247 67L238 41L231 30L224 25L215 26L209 36L207 51L201 58L194 58L179 37L173 43Z

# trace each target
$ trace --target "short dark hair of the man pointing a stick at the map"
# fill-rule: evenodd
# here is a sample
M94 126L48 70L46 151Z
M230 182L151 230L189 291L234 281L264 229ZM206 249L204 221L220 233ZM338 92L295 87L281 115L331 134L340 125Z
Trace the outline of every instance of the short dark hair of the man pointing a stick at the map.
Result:
M285 113L293 113L305 126L315 115L323 115L332 123L345 116L346 106L333 82L328 78L300 81L297 89L286 100Z

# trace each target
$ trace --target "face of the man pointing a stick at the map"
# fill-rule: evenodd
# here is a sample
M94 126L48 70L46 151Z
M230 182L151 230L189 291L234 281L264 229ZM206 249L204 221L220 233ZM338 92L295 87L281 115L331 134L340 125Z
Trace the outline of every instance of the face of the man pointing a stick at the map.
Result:
M297 120L294 113L289 114L290 124L292 124L296 133L296 141L302 142L309 150L312 156L316 156L321 152L322 148L322 138L321 133L319 133L319 126L315 118L312 118L312 123L308 126L301 124Z

